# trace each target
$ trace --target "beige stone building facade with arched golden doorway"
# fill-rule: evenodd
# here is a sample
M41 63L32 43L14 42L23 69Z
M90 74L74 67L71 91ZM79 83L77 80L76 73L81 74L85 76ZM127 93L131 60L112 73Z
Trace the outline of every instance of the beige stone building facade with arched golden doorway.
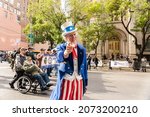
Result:
M137 58L136 54L139 53L135 47L134 38L128 34L128 32L123 27L120 21L114 21L113 25L115 26L115 35L110 39L105 41L100 41L97 56L102 59L105 55L107 59L110 59L112 55L116 59L117 56L122 55L123 57L129 57L131 59ZM134 19L130 23L129 28L133 29ZM138 44L141 44L142 34L140 32L132 32L137 37ZM150 61L150 41L147 44L147 47L143 55Z

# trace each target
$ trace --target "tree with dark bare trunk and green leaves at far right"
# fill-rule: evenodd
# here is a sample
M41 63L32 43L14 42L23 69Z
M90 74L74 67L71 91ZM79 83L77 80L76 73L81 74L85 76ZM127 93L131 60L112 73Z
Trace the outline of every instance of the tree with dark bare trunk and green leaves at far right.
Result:
M112 20L118 17L126 31L135 39L138 57L143 56L147 46L150 32L150 2L147 0L106 0L106 9ZM130 30L130 23L134 21L134 27ZM132 31L141 33L142 37L138 44L138 37Z

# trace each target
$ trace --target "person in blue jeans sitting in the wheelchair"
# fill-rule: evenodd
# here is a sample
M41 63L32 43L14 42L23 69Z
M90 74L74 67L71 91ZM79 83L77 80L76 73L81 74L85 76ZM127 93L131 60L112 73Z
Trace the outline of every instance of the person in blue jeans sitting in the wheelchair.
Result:
M27 56L27 59L23 64L23 69L26 73L32 74L32 77L37 79L40 84L41 91L48 90L48 87L51 86L50 79L47 74L34 64L31 56Z

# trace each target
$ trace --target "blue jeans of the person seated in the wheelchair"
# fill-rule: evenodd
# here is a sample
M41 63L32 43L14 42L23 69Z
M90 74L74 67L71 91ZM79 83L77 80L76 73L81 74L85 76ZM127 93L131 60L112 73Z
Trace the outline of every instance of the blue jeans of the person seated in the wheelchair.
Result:
M50 79L48 78L48 76L47 76L46 73L41 73L41 74L33 75L33 78L35 78L35 79L38 80L41 89L42 89L42 88L45 88L45 87L46 87L46 84L47 84L48 82L50 82Z

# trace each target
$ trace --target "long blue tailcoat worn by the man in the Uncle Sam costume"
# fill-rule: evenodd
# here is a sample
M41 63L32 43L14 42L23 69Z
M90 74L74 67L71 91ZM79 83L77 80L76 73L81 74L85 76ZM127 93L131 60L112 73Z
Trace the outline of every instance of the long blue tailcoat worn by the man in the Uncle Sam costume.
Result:
M60 65L58 67L56 87L52 91L50 96L51 100L59 100L61 95L61 84L65 74L72 75L74 72L72 53L69 54L68 58L64 58L65 49L66 43L57 46L57 61L58 63L60 63ZM78 44L77 51L78 51L78 74L81 75L83 79L83 93L84 93L85 87L88 84L86 49L82 45Z

